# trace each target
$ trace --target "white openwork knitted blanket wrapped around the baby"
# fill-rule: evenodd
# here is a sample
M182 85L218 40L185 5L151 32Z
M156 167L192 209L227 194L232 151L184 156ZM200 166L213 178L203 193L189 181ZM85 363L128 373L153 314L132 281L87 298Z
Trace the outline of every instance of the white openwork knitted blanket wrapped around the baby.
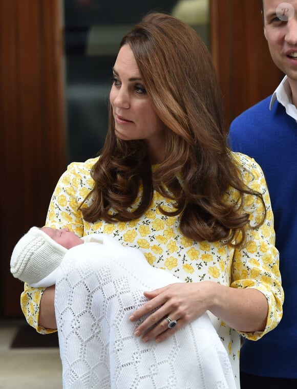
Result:
M107 235L68 251L55 310L64 389L236 389L230 361L207 314L166 341L143 342L131 313L144 290L179 282Z

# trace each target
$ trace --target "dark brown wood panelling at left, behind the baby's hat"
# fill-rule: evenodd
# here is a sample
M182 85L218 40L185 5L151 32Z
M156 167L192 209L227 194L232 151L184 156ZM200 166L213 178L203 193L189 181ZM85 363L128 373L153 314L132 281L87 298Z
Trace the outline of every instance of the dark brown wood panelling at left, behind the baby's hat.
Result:
M10 274L13 246L44 225L66 166L59 0L1 0L0 53L0 315L15 317L23 284Z

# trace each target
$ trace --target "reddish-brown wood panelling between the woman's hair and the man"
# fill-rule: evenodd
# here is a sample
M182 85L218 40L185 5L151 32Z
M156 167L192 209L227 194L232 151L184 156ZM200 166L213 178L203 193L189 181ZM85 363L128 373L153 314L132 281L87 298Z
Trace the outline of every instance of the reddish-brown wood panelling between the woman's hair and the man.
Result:
M263 34L259 0L210 0L211 53L226 125L270 95L283 77Z

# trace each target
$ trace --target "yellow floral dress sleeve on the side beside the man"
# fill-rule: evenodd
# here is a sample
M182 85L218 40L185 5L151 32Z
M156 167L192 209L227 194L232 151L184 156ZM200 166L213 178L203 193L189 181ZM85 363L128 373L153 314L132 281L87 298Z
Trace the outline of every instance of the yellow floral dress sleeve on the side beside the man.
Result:
M264 331L240 332L250 340L258 340L280 322L284 291L279 270L279 252L274 246L273 213L265 177L261 167L253 159L240 156L246 184L262 193L266 206L266 219L259 228L249 230L245 247L235 250L231 287L258 289L265 295L268 302L268 316ZM251 226L257 225L264 212L261 201L247 195L244 199L244 208L250 215Z

